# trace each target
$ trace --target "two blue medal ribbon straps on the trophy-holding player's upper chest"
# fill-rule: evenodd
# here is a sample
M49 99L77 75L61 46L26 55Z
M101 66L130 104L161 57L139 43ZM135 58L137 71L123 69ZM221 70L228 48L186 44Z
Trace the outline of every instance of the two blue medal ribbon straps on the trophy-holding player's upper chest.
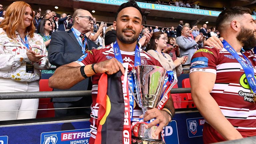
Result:
M120 52L120 48L118 43L115 41L114 45L114 54L115 54L115 58L120 62L123 63L123 58ZM140 66L140 50L139 47L136 45L135 47L135 56L134 56L134 66Z

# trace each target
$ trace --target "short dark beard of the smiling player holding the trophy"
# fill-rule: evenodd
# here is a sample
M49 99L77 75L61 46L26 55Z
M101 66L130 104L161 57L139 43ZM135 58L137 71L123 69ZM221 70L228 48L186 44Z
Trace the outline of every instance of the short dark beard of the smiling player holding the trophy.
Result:
M127 37L123 34L124 31L126 30L130 30L133 32L133 36L132 37ZM136 31L134 31L133 29L129 29L129 28L125 28L122 30L117 30L116 31L116 37L123 43L125 44L132 44L135 41L137 41L138 37L139 37L139 33L137 34Z

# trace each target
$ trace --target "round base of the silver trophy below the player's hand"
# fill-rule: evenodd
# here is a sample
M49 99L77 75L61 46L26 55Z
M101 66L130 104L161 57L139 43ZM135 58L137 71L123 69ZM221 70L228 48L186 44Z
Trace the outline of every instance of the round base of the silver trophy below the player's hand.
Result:
M161 133L153 137L157 126L152 126L148 129L145 126L146 124L138 123L132 129L132 144L165 144L161 139Z

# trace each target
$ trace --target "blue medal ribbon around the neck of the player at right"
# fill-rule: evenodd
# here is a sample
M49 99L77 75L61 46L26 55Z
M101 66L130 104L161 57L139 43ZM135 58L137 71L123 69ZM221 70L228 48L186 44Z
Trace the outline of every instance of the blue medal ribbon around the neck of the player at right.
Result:
M247 64L240 58L237 52L232 48L232 46L225 40L222 41L224 48L235 57L235 59L240 63L242 68L244 69L244 73L246 75L247 81L250 85L251 90L253 93L256 93L256 79L254 77L253 66L248 58L242 53L244 59L246 60Z

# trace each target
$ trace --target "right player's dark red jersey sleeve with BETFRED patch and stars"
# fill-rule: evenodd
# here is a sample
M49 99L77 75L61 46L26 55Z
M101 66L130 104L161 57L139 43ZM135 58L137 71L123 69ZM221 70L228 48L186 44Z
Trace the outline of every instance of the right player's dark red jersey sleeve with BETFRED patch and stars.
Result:
M197 50L191 58L190 73L210 72L216 74L217 57L218 53L214 48Z

